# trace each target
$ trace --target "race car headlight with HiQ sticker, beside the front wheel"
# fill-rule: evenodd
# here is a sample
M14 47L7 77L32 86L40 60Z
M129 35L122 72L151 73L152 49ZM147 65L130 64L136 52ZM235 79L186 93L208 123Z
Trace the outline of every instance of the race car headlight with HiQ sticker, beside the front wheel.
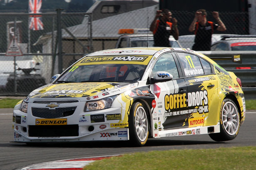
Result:
M112 102L117 96L106 97L101 100L94 100L90 102L86 102L84 112L93 111L93 110L101 110L108 109L111 107Z

